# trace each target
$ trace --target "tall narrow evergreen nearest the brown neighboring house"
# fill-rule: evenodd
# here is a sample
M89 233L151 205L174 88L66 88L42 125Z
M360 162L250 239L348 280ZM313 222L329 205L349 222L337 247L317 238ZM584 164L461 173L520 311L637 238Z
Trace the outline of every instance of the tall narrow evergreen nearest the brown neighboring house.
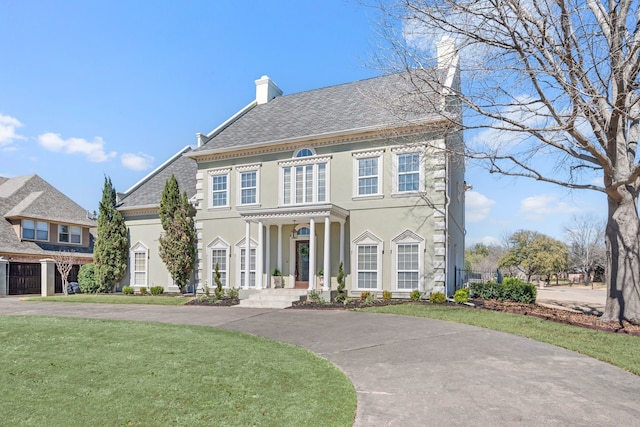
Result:
M112 292L125 274L129 239L122 214L116 210L116 190L104 178L98 215L98 236L93 251L98 292Z

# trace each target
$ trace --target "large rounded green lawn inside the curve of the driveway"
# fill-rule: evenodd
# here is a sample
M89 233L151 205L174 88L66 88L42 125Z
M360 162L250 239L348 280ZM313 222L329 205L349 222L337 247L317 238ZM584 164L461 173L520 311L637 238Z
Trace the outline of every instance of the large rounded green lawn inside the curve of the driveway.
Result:
M12 426L350 426L329 361L185 325L0 316L0 414Z

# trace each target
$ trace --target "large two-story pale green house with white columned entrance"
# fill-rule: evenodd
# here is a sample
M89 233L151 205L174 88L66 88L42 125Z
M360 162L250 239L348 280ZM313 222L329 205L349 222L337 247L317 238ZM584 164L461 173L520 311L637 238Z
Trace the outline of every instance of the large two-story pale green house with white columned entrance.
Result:
M452 52L440 44L438 67L425 72L457 89ZM131 277L140 277L131 282L166 281L153 276L166 272L157 256L160 183L145 187L188 158L198 287L214 286L217 265L225 287L271 287L277 269L287 287L329 291L343 263L351 295L452 294L464 265L464 147L442 112L458 118L460 109L446 94L411 87L390 75L283 96L268 77L257 80L253 102L127 192L119 209L131 233ZM432 109L414 111L417 102ZM127 202L134 197L148 197L147 217L143 202Z

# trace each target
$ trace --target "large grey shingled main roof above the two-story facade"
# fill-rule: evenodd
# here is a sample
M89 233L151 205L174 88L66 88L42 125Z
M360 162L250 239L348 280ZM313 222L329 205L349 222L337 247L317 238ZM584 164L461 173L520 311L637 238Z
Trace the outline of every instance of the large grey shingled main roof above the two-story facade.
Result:
M277 96L206 135L206 143L191 156L340 132L407 126L440 117L434 109L439 96L424 87L416 90L420 86L421 82L411 80L411 76L392 74Z

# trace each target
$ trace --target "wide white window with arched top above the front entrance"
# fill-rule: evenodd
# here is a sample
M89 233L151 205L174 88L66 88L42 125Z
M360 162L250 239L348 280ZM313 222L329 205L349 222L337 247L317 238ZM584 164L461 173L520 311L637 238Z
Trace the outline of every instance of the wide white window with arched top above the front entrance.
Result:
M316 156L309 148L299 150L291 160L280 162L281 199L284 205L329 201L330 156Z

